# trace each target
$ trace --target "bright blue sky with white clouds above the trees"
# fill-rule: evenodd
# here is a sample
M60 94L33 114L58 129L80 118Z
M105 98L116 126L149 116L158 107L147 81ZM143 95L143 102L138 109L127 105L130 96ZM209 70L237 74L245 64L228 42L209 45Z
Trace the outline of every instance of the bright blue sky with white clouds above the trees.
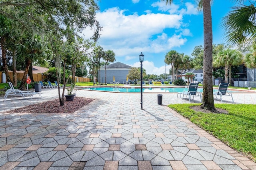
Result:
M101 0L98 4L96 18L103 27L98 45L113 50L115 62L140 67L142 52L146 73L160 75L170 69L164 63L168 51L191 56L196 45L203 45L203 15L194 0L174 0L171 6L160 0ZM220 25L232 6L231 0L214 0L212 4L215 44L225 43Z

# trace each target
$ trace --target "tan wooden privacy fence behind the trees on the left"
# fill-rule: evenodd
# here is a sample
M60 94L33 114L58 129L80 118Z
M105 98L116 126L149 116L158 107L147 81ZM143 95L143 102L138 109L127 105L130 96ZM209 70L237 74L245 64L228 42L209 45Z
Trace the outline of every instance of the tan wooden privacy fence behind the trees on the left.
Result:
M12 71L9 71L9 75L10 75L11 80L12 80L12 75L13 75ZM21 80L23 75L24 75L24 73L17 73L17 80ZM34 81L42 81L42 80L44 80L46 78L47 78L47 75L42 75L41 73L33 74ZM72 76L70 76L70 78L72 79ZM85 78L85 77L75 77L75 81L76 82L90 82L90 79L89 78ZM7 82L7 79L6 79L6 82ZM2 71L0 71L0 83L3 83Z

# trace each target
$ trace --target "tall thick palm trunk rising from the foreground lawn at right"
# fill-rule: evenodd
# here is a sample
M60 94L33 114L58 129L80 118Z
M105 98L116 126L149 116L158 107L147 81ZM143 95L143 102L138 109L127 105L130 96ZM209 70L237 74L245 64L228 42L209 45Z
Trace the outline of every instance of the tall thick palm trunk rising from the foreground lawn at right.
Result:
M204 17L204 89L202 109L216 112L212 88L212 13L210 0L203 0Z

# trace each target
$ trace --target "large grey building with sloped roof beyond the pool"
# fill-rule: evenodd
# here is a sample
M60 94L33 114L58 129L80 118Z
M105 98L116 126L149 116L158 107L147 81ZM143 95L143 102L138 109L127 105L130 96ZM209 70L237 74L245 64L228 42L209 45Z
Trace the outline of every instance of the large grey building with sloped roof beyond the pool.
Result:
M116 82L123 83L126 81L126 76L128 72L132 68L130 65L126 65L124 63L116 62L106 66L106 83L110 83L113 81L115 77ZM99 75L98 75L99 77ZM100 82L105 83L105 66L100 67Z

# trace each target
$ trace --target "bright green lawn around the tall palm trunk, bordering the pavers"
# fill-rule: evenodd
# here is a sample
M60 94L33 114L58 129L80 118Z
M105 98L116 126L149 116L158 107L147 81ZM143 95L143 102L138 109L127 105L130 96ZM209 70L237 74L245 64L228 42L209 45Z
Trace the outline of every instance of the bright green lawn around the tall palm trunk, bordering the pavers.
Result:
M215 104L228 114L196 112L190 107L200 104L168 105L180 115L203 128L238 152L256 161L256 105Z

